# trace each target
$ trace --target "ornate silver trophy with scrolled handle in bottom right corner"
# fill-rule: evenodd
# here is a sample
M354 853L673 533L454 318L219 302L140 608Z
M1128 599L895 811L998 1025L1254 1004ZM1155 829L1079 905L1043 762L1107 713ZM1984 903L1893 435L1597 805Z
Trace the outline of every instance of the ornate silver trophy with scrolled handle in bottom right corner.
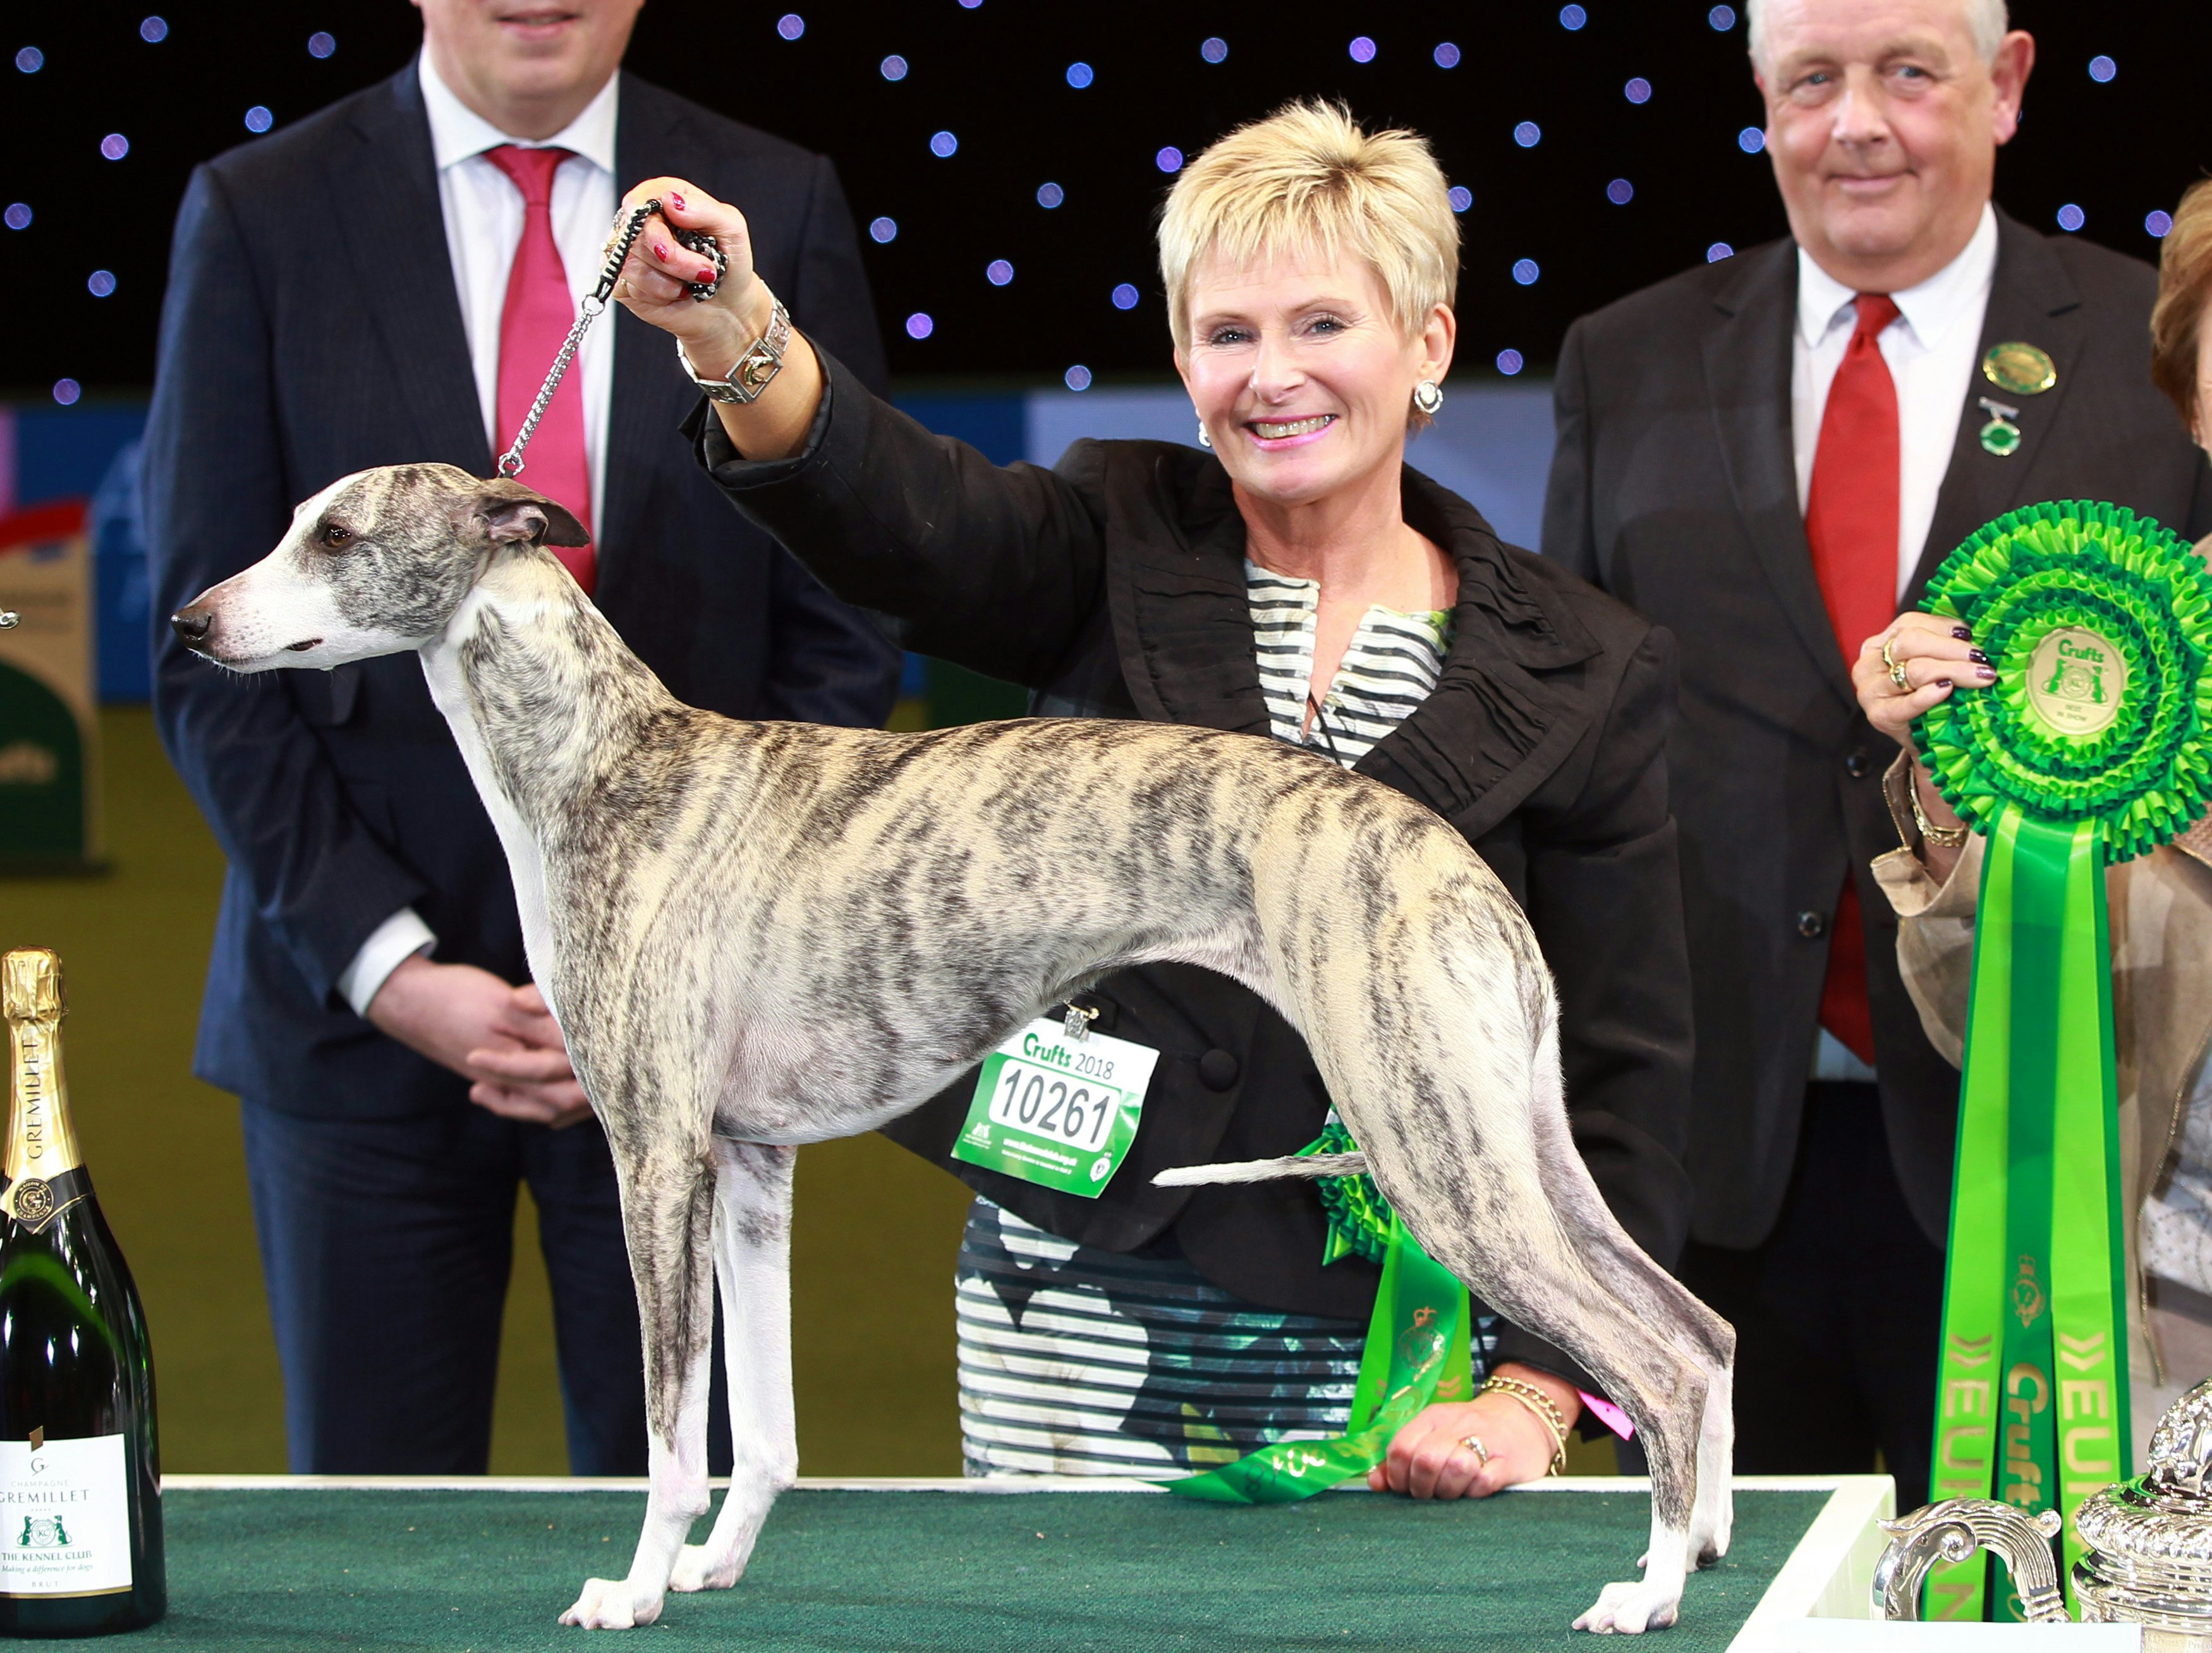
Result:
M2084 1624L2141 1624L2143 1653L2212 1653L2212 1381L2168 1407L2150 1436L2150 1472L2093 1494L2075 1511L2088 1553L2073 1569ZM2004 1558L2031 1622L2062 1622L2051 1540L2059 1514L1993 1498L1947 1498L1898 1520L1874 1571L1878 1618L1920 1618L1920 1582L1938 1560L1980 1549Z

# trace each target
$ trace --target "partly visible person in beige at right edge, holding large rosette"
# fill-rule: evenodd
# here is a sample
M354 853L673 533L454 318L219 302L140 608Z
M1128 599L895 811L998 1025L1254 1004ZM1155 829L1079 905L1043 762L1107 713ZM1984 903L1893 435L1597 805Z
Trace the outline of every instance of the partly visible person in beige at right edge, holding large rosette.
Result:
M2159 248L2150 376L2212 449L2212 179L2174 208ZM2199 500L2212 478L2199 482ZM2212 538L2197 542L2212 553ZM1891 677L1882 646L1902 662ZM1982 839L1964 830L1913 748L1920 713L1997 682L1964 626L1907 613L1858 651L1867 719L1905 750L1885 781L1902 848L1874 863L1898 909L1898 967L1938 1051L1964 1060ZM2212 819L2106 872L2121 1179L2135 1221L2128 1376L2137 1458L2159 1416L2212 1376ZM2139 1465L2141 1467L2141 1465Z

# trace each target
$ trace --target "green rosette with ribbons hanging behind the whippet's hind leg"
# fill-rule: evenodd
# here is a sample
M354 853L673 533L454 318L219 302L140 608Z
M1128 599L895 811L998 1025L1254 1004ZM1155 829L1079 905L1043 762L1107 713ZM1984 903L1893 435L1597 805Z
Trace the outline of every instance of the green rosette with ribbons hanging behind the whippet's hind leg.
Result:
M1298 1153L1356 1153L1352 1133L1329 1115ZM1219 1469L1164 1483L1181 1498L1228 1505L1283 1505L1365 1476L1431 1401L1473 1394L1473 1323L1467 1288L1420 1248L1374 1177L1321 1177L1329 1215L1325 1264L1367 1257L1383 1266L1376 1308L1360 1350L1352 1416L1334 1441L1276 1441Z

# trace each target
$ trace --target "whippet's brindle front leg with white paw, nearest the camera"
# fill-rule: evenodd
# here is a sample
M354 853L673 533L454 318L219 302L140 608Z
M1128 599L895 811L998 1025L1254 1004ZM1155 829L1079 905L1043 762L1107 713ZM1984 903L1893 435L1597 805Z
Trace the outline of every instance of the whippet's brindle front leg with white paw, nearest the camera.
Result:
M586 1578L562 1624L626 1631L661 1615L668 1576L706 1514L708 1361L714 1356L714 1168L706 1144L659 1144L635 1164L617 1133L615 1177L646 1334L646 1527L628 1578Z

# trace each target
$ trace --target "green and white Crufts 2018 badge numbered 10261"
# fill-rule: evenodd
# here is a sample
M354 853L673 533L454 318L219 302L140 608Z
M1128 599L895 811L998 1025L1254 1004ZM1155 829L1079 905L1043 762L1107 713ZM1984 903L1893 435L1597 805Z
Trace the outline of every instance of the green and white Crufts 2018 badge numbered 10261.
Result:
M953 1157L1095 1197L1137 1137L1159 1051L1040 1018L984 1058Z

